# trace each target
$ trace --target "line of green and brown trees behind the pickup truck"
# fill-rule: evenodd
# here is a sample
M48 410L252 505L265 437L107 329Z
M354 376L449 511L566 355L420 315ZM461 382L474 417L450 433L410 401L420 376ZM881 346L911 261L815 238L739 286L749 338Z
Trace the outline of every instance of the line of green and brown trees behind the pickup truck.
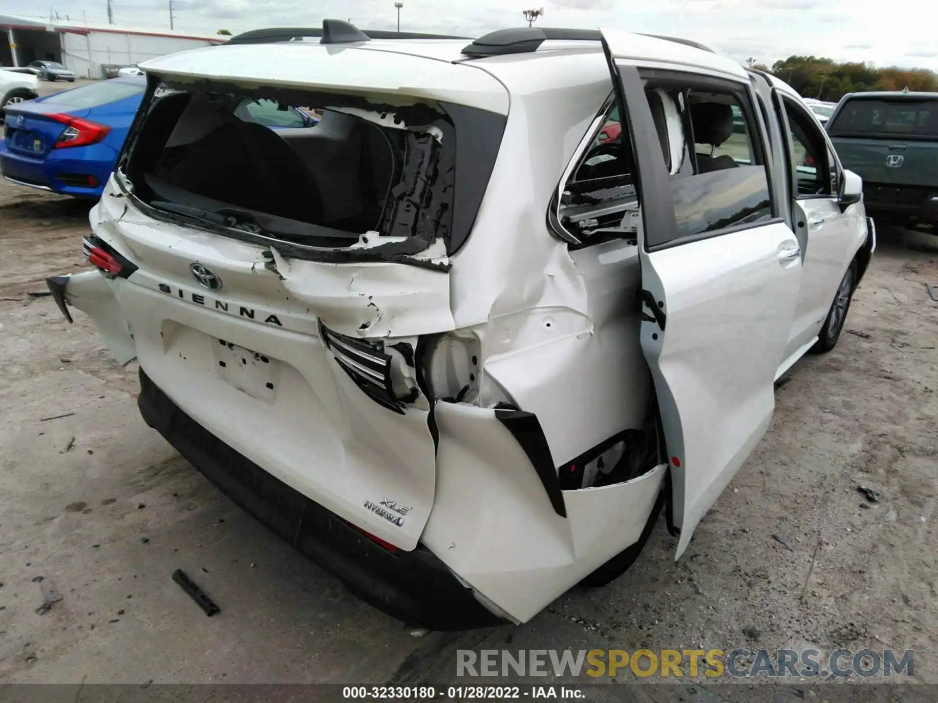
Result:
M938 75L925 68L874 68L867 64L839 64L833 59L817 56L789 56L772 67L747 62L778 76L803 97L837 102L847 93L868 90L902 90L938 92Z

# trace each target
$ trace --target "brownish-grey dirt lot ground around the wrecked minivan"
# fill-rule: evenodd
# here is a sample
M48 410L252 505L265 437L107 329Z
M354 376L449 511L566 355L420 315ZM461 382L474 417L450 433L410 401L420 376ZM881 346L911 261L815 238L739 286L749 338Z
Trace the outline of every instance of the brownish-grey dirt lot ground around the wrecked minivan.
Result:
M452 681L457 649L843 646L914 649L915 681L938 683L938 303L925 287L938 238L881 232L849 334L789 373L681 561L662 521L609 587L569 591L521 627L415 637L223 498L144 426L135 364L116 365L82 313L69 325L29 296L84 267L88 209L0 186L0 681L417 683ZM174 584L177 568L219 615ZM43 586L62 600L38 615ZM590 696L626 691L756 699L743 686Z

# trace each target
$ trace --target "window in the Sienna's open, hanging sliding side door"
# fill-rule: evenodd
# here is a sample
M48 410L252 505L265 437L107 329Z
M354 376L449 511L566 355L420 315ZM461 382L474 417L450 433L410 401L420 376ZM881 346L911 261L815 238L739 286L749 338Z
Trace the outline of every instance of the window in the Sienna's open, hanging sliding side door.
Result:
M672 175L678 239L753 225L773 217L765 146L745 88L670 88L688 140L688 158ZM649 247L667 244L646 232Z

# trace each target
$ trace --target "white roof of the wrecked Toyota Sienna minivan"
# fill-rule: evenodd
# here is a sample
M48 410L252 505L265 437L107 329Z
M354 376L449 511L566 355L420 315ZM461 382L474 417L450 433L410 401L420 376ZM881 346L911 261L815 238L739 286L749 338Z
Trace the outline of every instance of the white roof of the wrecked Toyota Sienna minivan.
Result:
M354 27L352 30L357 31ZM255 30L257 34L262 31ZM560 32L542 30L551 31ZM430 97L507 114L508 93L526 93L534 85L538 90L563 88L570 82L571 70L582 71L583 82L609 81L598 32L567 30L573 31L590 39L542 37L533 49L508 48L485 56L467 55L470 43L475 45L479 40L472 42L466 38L366 37L367 40L334 44L324 44L316 37L273 42L262 39L256 43L235 40L226 45L161 56L141 67L184 82L184 77L208 78L346 92L354 86L356 92ZM660 64L677 57L685 66L746 76L733 60L705 48L688 46L682 40L616 34L620 41L622 37L628 39L629 47L635 50L632 58ZM385 55L379 59L375 53ZM490 75L485 76L486 73Z

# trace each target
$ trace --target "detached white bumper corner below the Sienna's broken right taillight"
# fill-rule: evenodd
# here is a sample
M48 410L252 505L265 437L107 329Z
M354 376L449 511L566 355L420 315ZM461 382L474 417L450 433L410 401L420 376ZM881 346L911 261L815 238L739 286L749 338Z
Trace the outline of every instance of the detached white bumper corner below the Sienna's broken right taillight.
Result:
M435 417L436 495L421 542L515 620L530 620L641 536L667 465L563 491L562 517L495 411L440 402Z

